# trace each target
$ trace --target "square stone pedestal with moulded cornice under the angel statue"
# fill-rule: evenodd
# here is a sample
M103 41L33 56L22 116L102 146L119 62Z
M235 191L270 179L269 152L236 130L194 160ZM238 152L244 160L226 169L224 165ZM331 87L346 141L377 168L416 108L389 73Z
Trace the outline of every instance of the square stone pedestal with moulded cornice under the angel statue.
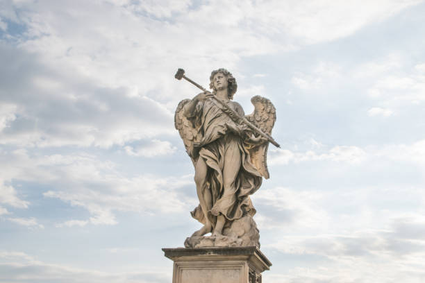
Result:
M272 263L256 247L163 248L173 283L261 283Z

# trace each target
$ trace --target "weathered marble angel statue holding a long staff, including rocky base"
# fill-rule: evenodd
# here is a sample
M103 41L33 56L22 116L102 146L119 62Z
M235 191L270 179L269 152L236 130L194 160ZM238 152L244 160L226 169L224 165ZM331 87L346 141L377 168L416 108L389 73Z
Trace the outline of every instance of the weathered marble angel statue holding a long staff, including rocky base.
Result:
M186 78L183 69L176 78ZM194 83L197 85L197 83ZM200 85L197 85L201 88ZM199 206L191 212L203 227L186 247L259 246L249 196L269 178L267 148L276 110L267 98L253 96L252 114L233 101L238 85L226 69L211 73L210 89L178 104L175 126L194 164ZM203 235L212 233L210 237Z

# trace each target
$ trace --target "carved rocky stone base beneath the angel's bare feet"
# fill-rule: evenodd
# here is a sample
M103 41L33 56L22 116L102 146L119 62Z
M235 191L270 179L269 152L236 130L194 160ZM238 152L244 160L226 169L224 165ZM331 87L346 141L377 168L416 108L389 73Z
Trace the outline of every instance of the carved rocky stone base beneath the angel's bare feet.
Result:
M256 246L260 248L260 234L256 222L246 215L231 223L223 229L222 235L217 236L192 236L186 238L186 248L206 247L247 247Z

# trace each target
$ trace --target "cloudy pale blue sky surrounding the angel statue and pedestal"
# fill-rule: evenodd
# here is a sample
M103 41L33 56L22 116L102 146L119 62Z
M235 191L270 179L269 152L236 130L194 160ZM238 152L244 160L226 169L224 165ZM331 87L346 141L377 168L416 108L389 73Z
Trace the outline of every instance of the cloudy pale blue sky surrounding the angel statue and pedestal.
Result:
M0 282L165 283L201 227L178 102L276 107L267 283L425 281L425 1L0 0Z

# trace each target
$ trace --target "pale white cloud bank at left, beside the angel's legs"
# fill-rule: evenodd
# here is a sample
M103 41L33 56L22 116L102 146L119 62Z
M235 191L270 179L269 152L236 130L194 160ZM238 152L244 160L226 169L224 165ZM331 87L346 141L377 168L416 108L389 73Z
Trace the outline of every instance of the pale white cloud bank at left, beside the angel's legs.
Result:
M45 197L58 198L90 212L90 223L113 225L115 211L137 213L183 212L194 200L180 196L178 189L192 185L188 176L127 176L110 161L96 155L32 155L27 151L0 152L5 180L38 182L51 188ZM0 187L3 203L25 208L11 186Z

